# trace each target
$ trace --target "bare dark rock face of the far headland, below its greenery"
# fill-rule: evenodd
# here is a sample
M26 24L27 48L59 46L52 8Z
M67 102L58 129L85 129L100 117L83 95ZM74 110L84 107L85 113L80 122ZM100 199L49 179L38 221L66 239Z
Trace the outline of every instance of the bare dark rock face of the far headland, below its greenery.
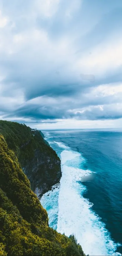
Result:
M61 179L61 161L57 157L35 151L35 157L23 168L32 190L41 197Z

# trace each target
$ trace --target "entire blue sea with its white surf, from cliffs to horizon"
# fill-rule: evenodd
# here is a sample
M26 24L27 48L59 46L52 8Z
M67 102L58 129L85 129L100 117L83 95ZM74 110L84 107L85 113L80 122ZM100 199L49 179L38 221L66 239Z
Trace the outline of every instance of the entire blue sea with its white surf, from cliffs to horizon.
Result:
M41 198L49 225L87 255L122 254L122 130L43 131L62 178Z

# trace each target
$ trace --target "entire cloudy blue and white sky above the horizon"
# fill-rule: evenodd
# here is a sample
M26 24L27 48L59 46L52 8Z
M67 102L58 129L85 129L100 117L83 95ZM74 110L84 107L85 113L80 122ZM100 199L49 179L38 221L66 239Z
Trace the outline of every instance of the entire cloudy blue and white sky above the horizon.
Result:
M0 119L122 128L122 1L0 0Z

